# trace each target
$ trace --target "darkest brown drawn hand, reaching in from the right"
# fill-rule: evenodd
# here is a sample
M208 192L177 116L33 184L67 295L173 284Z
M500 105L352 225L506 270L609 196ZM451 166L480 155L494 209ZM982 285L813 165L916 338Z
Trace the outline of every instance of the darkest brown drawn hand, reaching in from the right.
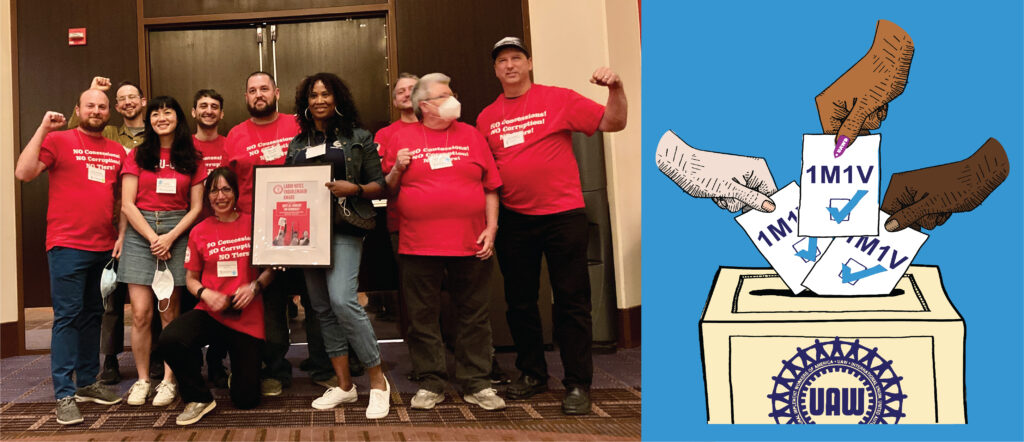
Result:
M952 213L980 206L1009 174L1007 151L995 138L965 160L894 174L882 201L890 214L886 230L940 226Z

